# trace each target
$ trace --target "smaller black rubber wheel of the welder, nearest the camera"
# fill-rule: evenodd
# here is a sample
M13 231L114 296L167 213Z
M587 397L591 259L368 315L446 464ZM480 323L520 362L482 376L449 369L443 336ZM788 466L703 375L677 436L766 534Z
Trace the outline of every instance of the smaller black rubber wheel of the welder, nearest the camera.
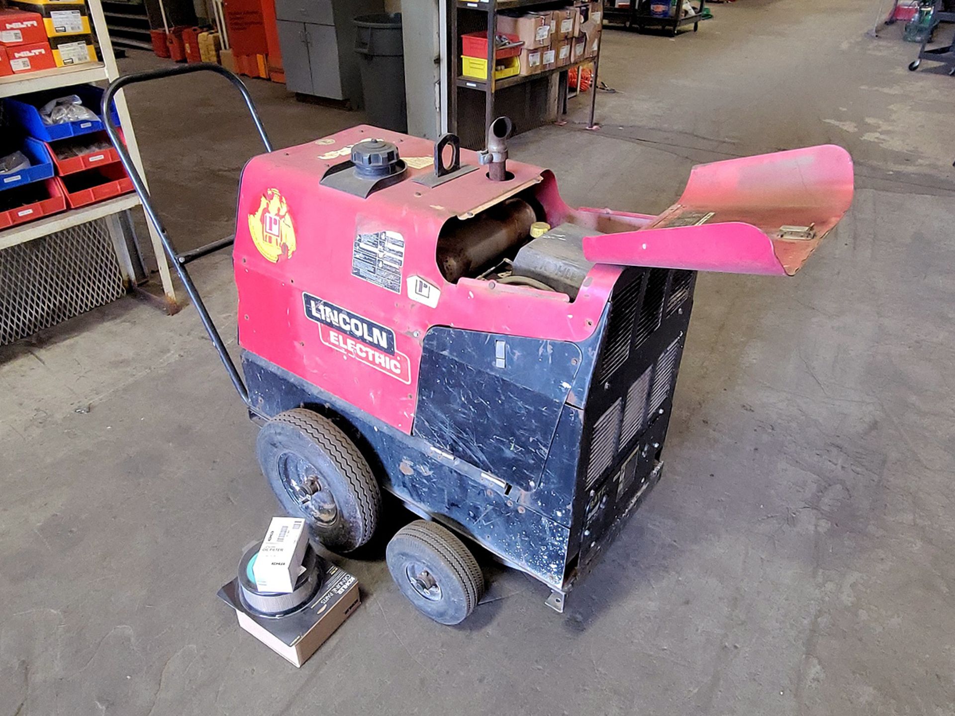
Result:
M477 559L452 532L418 519L402 527L386 550L388 570L401 593L426 617L464 621L484 593Z

